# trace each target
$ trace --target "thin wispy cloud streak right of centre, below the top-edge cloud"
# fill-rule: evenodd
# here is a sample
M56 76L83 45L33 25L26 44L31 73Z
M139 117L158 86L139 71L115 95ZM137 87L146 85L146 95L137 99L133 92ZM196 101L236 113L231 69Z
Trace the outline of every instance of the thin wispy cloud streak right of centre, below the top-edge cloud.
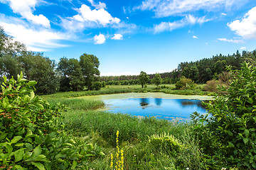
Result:
M180 21L161 22L159 25L154 25L154 33L161 33L163 31L171 31L171 30L175 30L177 28L183 28L184 26L194 25L196 23L202 24L207 21L210 21L210 20L206 19L205 16L197 18L197 17L191 16L191 15L188 15Z

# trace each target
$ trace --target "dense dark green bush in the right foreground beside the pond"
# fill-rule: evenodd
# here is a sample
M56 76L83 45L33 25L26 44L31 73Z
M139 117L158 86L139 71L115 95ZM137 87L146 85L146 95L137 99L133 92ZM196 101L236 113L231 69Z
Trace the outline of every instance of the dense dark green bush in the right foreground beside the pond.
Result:
M198 128L196 132L200 132L199 140L205 153L213 157L214 164L255 169L256 68L244 63L241 70L231 73L230 88L223 89L226 93L216 96L215 101L208 104L211 116L193 116L193 123ZM202 134L208 134L215 141L213 145Z

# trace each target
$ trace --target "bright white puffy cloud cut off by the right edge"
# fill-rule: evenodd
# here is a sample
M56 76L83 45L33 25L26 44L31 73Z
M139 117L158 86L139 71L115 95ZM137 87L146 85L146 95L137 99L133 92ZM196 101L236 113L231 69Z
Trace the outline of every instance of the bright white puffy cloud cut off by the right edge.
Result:
M230 30L245 39L256 39L256 6L248 11L242 20L227 24Z

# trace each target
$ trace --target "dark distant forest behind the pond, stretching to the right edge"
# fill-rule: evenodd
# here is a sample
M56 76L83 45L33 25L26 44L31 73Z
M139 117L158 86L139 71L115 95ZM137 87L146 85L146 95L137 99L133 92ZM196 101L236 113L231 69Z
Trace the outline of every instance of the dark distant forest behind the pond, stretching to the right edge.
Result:
M215 55L211 58L204 58L196 62L181 62L178 68L172 72L160 73L163 84L175 84L180 77L192 79L198 84L205 84L206 81L217 79L218 75L225 72L227 66L232 69L240 69L242 62L250 62L256 66L256 50L252 52L239 51L233 55ZM152 83L155 74L149 74L149 84ZM133 76L109 76L100 77L107 85L128 85L140 84L139 75Z

